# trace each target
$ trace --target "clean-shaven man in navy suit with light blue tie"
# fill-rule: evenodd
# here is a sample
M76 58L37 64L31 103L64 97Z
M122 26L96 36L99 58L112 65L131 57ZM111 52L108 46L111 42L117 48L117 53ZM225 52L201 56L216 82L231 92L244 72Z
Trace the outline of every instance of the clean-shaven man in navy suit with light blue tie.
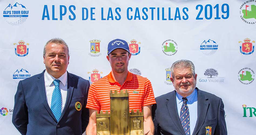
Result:
M49 40L43 51L46 70L18 84L12 123L22 135L82 135L90 83L67 72L69 49L64 40Z

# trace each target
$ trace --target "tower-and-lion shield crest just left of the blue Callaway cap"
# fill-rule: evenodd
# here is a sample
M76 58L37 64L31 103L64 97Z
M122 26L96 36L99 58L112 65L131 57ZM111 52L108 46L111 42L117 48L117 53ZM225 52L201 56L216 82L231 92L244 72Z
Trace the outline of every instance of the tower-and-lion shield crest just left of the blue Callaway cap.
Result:
M100 56L100 40L94 39L90 40L90 56L97 57Z

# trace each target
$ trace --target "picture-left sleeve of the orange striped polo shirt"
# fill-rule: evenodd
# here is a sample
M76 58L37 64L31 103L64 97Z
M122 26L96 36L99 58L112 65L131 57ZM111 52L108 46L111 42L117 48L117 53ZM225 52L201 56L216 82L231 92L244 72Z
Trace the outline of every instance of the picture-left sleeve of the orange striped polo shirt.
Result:
M97 90L94 83L89 88L86 108L100 110L99 100L97 98Z

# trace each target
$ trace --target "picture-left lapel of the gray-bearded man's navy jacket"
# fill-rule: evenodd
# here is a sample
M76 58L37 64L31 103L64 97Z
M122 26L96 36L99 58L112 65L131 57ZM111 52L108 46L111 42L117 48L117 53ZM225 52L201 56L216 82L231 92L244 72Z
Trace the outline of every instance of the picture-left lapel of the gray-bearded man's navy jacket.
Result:
M180 122L180 117L178 115L178 110L177 110L177 102L176 102L176 92L173 91L170 93L170 95L168 95L167 99L166 99L166 106L167 109L170 113L171 119L173 120L173 123L176 125L176 127L178 128L178 130L180 130L180 133L185 135L185 131L181 125Z

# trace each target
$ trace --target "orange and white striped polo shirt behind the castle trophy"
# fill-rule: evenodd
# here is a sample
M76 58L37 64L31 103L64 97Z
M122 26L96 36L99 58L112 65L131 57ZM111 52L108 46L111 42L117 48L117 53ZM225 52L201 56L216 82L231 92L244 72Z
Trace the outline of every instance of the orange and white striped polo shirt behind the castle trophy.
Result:
M110 112L110 90L128 91L130 112L139 109L142 112L142 107L155 104L151 82L146 77L135 75L128 71L127 77L121 86L113 77L112 72L107 76L93 82L90 86L86 108L94 110L102 110Z

